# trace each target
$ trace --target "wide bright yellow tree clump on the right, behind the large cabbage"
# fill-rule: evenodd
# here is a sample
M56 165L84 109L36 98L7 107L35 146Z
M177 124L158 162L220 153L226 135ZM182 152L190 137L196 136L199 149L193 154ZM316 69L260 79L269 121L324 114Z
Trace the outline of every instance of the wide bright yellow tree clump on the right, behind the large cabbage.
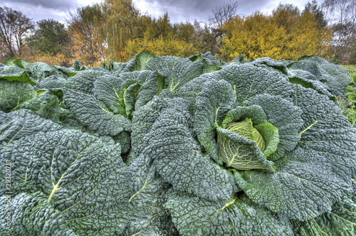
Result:
M271 16L256 11L250 16L236 16L222 27L221 53L225 60L239 54L245 58L270 57L296 60L301 55L320 55L331 37L328 29L318 28L313 12L292 4L280 4Z

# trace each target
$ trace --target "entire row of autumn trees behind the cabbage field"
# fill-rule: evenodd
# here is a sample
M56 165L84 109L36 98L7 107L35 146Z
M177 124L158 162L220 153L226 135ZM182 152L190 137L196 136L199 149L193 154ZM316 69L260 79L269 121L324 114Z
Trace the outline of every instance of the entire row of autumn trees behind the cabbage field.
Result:
M337 63L356 63L356 0L309 2L303 11L279 4L272 14L238 14L237 2L212 10L205 22L171 23L168 14L142 14L132 0L104 0L68 13L66 23L33 23L21 12L0 7L0 57L48 64L98 65L130 60L142 50L187 57L211 51L230 61L270 57L295 60L318 55Z

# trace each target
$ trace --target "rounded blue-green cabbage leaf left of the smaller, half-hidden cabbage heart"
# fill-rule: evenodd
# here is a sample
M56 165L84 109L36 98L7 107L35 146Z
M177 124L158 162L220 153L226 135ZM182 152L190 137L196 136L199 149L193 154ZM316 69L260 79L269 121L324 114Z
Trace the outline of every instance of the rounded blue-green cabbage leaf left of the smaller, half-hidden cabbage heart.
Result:
M117 100L122 80L102 71L83 70L70 77L63 89L63 101L79 122L102 135L130 131L130 120Z

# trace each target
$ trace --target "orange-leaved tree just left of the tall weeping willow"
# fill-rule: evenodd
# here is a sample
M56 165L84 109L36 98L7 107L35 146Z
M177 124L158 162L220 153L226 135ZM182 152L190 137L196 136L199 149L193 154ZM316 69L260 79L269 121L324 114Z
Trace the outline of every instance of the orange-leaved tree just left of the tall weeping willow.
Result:
M69 13L66 20L69 44L66 50L70 51L73 60L80 60L83 65L93 66L104 61L105 43L95 35L93 23L85 21L84 12L85 7Z

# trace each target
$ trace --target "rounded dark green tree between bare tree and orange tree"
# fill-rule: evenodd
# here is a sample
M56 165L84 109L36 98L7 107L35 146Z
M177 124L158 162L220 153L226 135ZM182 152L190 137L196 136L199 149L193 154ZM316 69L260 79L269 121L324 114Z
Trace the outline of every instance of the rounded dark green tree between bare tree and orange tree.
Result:
M36 30L26 40L29 47L48 55L63 53L64 48L69 43L64 24L53 19L37 21Z

